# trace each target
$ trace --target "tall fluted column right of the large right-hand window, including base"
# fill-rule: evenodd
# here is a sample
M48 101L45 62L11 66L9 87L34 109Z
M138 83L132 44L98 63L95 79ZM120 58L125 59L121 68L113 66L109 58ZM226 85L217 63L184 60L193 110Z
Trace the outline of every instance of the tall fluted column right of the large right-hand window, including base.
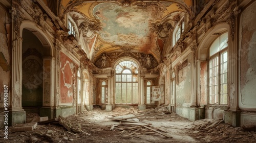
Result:
M240 109L238 100L238 7L230 13L227 22L230 26L228 37L228 106L224 113L224 122L233 127L240 126Z

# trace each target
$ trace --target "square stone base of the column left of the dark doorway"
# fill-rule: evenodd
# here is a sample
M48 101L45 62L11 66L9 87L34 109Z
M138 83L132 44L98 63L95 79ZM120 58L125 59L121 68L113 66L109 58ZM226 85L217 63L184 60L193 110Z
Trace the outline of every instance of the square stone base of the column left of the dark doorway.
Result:
M5 114L5 113L4 113ZM8 112L8 126L13 126L16 124L26 123L26 111L9 111Z

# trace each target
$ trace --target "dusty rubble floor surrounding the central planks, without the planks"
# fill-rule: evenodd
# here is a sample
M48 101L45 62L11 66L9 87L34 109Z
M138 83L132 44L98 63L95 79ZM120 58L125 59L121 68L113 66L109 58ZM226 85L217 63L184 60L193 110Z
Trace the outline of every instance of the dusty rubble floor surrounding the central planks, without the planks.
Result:
M164 109L161 110L164 112ZM216 120L190 122L174 113L139 117L140 122L151 123L152 127L165 131L172 138L157 133L126 136L131 132L120 134L121 130L110 130L113 125L119 124L110 121L110 117L127 114L138 115L141 111L117 107L112 112L106 112L96 107L93 111L66 117L71 123L81 125L81 133L71 133L63 126L47 124L38 125L33 131L10 131L8 139L4 139L2 130L0 142L256 142L256 132L246 132Z

